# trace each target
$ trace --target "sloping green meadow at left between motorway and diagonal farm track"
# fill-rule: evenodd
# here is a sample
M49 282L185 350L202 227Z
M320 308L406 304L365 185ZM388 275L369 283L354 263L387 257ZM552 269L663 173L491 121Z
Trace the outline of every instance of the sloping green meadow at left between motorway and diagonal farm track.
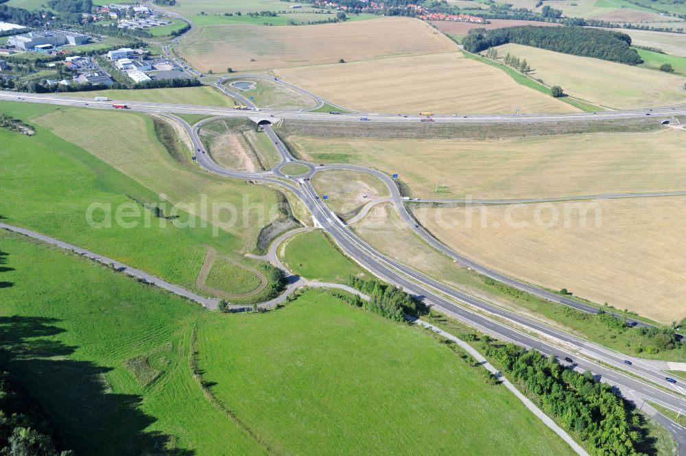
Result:
M51 123L56 130L61 131L64 125L80 130L84 128L84 124L78 122L86 121L82 117L84 111L65 108L55 110L54 107L38 104L2 103L0 106L4 112L14 117L32 125L38 123L36 134L31 137L0 130L3 144L0 150L3 163L0 168L3 193L0 214L7 219L7 223L44 232L139 267L189 289L196 289L196 275L205 256L204 245L211 245L220 254L239 262L247 261L237 252L241 251L246 239L252 239L252 245L255 245L259 227L255 227L252 234L244 237L243 233L247 234L252 228L241 228L235 234L230 234L222 229L214 230L211 224L202 226L197 217L193 226L189 224L189 213L184 210L179 211L177 221L180 224L175 225L170 219L156 217L152 208L143 206L158 205L163 208L164 217L170 217L171 204L161 200L159 193L174 195L174 189L182 190L187 184L197 187L194 192L204 189L208 194L211 187L216 185L217 194L222 194L222 201L237 197L237 204L240 202L240 195L248 192L246 194L250 195L251 201L269 206L275 201L275 196L269 189L230 180L214 183L207 181L200 171L185 168L169 157L154 139L152 121L143 121L137 115L133 116L136 119L134 126L143 125L143 130L138 130L144 133L143 136L137 136L136 128L130 128L128 123L119 123L118 117L110 116L101 117L100 120L104 123L93 125L91 130L84 132L86 135L91 134L89 132L99 132L93 139L94 143L99 141L104 146L102 149L110 150L119 158L123 158L122 152L115 143L121 144L121 141L108 139L108 131L126 131L128 138L134 143L139 142L130 151L136 156L130 162L130 167L126 165L126 160L123 162L126 166L120 166L123 171L130 172L137 178L134 180L88 154L81 147L40 126L47 116L58 113L57 115L64 115L65 123ZM74 112L77 117L71 117ZM87 111L85 115L89 118L97 117L97 113L93 111ZM123 116L129 117L130 114ZM141 121L142 124L139 123ZM77 124L69 126L71 122ZM146 167L148 171L143 171ZM131 169L134 168L143 173L132 172ZM168 188L167 184L163 187L147 187L145 179L141 178L147 172L150 176L160 173L162 176L159 182L168 182L174 189ZM181 183L184 181L185 183ZM188 202L192 195L192 192L180 195L179 200ZM98 223L105 220L106 212L110 213L106 209L111 208L112 223L109 228L97 228L97 225L88 224L86 214L91 204L99 204L93 212L93 220ZM139 212L138 217L123 219L127 222L138 221L137 226L125 228L123 224L116 222L115 215L119 207L126 207L126 211ZM146 218L149 220L149 228L145 227ZM187 226L184 228L183 224ZM247 265L254 266L254 263L248 262Z

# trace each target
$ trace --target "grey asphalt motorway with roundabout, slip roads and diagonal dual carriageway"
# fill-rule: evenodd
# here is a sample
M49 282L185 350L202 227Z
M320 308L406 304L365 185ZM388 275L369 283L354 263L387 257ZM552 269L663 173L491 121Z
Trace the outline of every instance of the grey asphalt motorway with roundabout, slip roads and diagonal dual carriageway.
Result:
M26 101L36 103L55 104L57 106L80 106L88 108L112 109L112 102L96 102L92 99L75 99L71 97L60 97L56 95L36 95L24 93L7 93L0 92L0 99L10 99L12 101ZM270 119L269 111L267 110L250 110L237 111L227 108L213 108L207 106L189 107L187 105L176 104L152 104L148 102L130 102L122 101L123 104L128 105L132 110L141 112L158 112L167 113L168 117L173 117L175 121L183 125L189 134L191 141L196 150L196 160L198 164L209 172L226 176L228 178L238 178L262 182L265 184L272 184L274 186L282 187L292 191L313 215L314 220L321 226L331 238L342 248L342 250L351 257L354 261L362 265L369 272L375 276L397 285L405 289L405 291L414 294L421 298L426 304L436 307L436 309L456 317L458 320L469 324L474 328L483 331L497 339L504 341L512 341L515 344L525 346L526 348L534 348L543 352L546 355L555 353L560 358L569 357L574 359L573 367L578 370L590 370L593 374L600 375L603 381L615 385L619 388L626 397L635 397L639 399L648 399L657 403L667 409L674 411L686 410L686 389L683 388L683 383L679 385L671 385L664 381L664 372L652 368L650 365L643 365L639 360L634 360L632 365L627 366L624 360L628 359L625 355L613 352L602 346L591 344L576 336L569 335L564 331L551 328L545 324L541 324L528 317L523 317L516 313L506 311L500 307L484 302L483 300L469 296L466 293L452 289L443 285L438 280L430 278L425 274L417 272L416 270L403 265L402 263L390 259L383 254L380 254L370 245L359 239L349 230L338 217L332 213L328 206L320 199L314 189L311 187L309 180L291 179L291 182L284 182L283 178L287 178L279 171L279 167L272 171L265 171L262 173L243 173L224 169L217 165L206 154L204 146L202 145L198 129L203 123L211 121L205 119L200 123L191 127L187 122L179 117L174 116L173 112L196 112L202 114L214 114L223 117L250 117L252 119ZM88 104L88 106L86 106ZM246 105L248 106L248 105ZM347 119L348 121L359 121L357 115L329 115L326 113L316 112L290 112L290 111L271 111L274 117L287 119L316 119L341 121ZM470 117L436 117L436 121L445 121L451 123L460 122L501 122L501 121L588 121L589 119L626 119L646 116L646 114L654 115L655 117L666 116L667 113L673 115L686 115L686 107L663 108L661 110L636 110L636 111L621 111L621 112L602 112L598 115L591 113L579 113L574 115L534 115L534 116L497 116L497 115L482 115ZM401 117L390 115L368 115L372 121L386 121L404 123L408 121L418 121L416 117ZM657 121L657 119L656 119ZM569 300L563 296L558 296L554 293L549 293L538 287L521 283L518 280L499 274L498 272L488 269L483 265L479 265L464 256L452 252L445 245L436 240L429 232L416 224L412 215L405 207L403 197L400 195L397 185L394 181L384 173L373 169L358 167L355 165L327 165L324 167L316 167L311 163L305 163L295 158L289 153L287 147L283 144L279 136L276 135L271 125L264 125L266 134L274 142L279 153L281 154L281 165L283 163L303 163L309 167L307 177L314 175L314 173L326 169L348 169L354 171L364 171L372 173L383 182L386 182L388 188L392 192L392 200L398 208L401 217L418 235L427 241L434 248L456 259L460 265L469 266L473 269L490 276L495 280L506 283L513 287L523 289L535 296L540 296L560 304L569 305L577 309L595 312L596 309L587 304L582 304L574 300ZM279 165L279 166L281 166ZM281 179L279 179L281 178ZM456 303L460 303L460 305ZM585 309L589 307L590 309ZM505 321L509 324L504 323ZM510 325L514 326L510 326ZM637 324L642 324L637 322ZM579 357L582 354L583 357ZM608 367L613 366L613 368ZM617 369L626 370L619 372ZM662 387L658 387L653 383L657 383ZM668 391L672 389L672 392ZM676 428L674 427L676 426ZM677 437L681 444L682 451L685 451L686 430L678 427L676 424L670 424L670 432Z

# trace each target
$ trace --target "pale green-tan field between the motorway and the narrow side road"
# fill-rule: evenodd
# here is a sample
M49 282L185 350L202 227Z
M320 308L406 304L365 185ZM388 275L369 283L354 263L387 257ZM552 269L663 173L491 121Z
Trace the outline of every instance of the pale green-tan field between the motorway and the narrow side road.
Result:
M684 191L685 138L665 128L501 140L290 136L289 143L309 160L400 173L415 197L512 199Z

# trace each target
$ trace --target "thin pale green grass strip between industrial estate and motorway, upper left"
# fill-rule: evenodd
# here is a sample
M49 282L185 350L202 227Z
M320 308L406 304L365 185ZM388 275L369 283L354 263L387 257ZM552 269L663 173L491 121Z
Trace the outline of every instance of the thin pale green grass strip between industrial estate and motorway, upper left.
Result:
M198 106L233 106L233 99L210 86L178 88L145 88L139 90L110 89L90 92L62 93L67 97L108 97L121 101L151 101L154 103L193 104Z

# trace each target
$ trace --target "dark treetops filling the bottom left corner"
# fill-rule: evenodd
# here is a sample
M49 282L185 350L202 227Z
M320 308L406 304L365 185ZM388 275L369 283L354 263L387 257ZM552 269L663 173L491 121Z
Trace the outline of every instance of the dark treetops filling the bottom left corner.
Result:
M8 372L0 372L0 455L73 456L56 449L43 413Z

